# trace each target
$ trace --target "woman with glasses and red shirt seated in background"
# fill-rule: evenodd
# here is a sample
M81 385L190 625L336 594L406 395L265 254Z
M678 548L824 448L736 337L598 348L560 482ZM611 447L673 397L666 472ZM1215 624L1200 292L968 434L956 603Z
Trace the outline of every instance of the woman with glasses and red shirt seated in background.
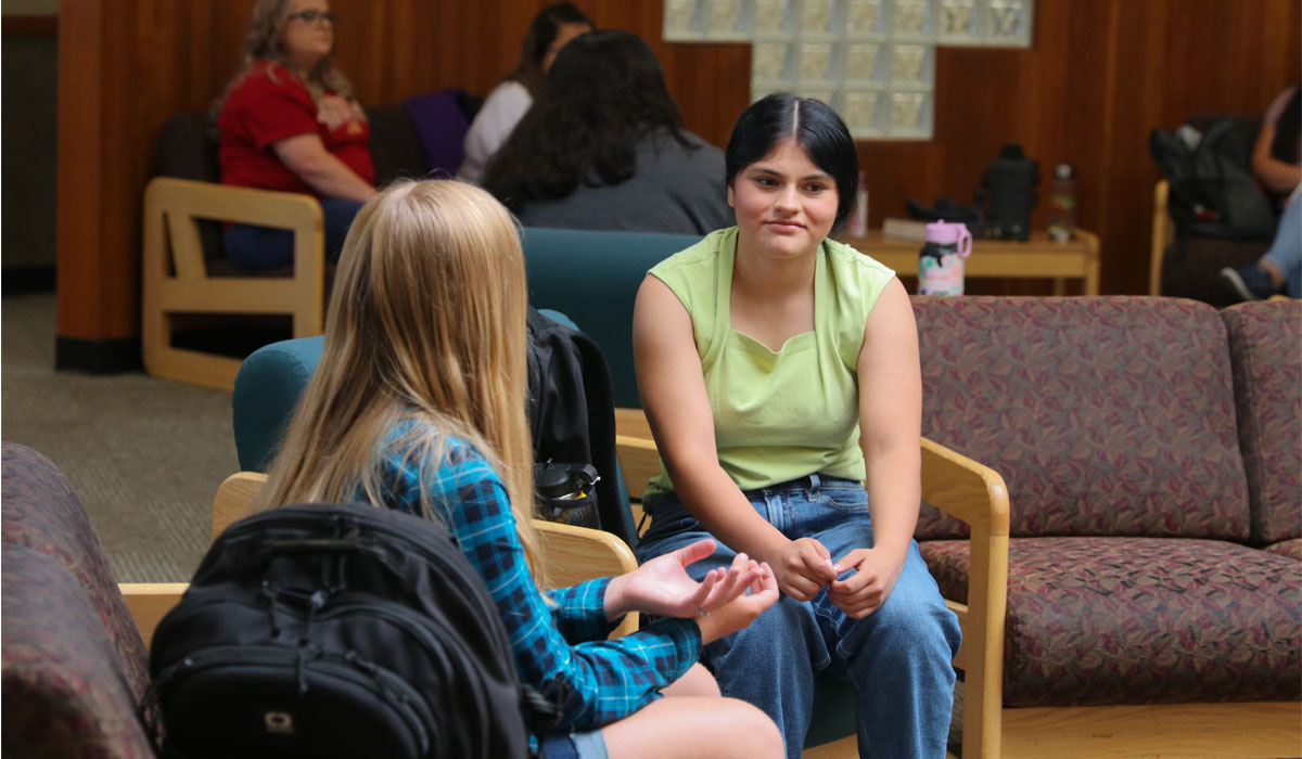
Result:
M258 0L243 64L216 105L221 184L314 195L331 262L357 210L375 195L366 113L335 68L336 21L327 0ZM288 229L233 224L224 242L241 268L294 258Z

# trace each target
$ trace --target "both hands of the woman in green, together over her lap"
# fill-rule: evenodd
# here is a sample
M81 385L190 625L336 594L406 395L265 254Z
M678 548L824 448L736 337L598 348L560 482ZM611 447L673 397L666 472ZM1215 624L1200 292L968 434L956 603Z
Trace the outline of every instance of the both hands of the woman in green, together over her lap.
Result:
M879 548L855 548L832 561L832 553L814 538L789 540L771 553L785 595L807 601L825 587L828 600L853 618L866 617L885 603L904 568L904 557L896 560ZM837 579L852 569L854 574Z

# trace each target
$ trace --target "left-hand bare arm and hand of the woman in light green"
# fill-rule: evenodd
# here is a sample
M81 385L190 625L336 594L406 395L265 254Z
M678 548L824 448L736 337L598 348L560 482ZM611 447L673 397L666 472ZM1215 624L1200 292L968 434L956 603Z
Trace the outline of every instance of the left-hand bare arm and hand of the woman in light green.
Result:
M713 415L691 331L691 316L673 292L648 276L633 310L638 391L656 447L677 496L733 551L773 568L783 592L809 600L835 577L816 540L788 540L755 513L719 465Z

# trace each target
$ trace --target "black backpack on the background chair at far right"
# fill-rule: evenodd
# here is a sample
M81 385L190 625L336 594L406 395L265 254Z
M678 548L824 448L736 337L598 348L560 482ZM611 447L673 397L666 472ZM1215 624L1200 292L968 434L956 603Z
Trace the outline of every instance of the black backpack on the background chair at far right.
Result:
M1249 150L1228 116L1212 121L1194 148L1177 131L1150 133L1148 152L1169 181L1167 207L1180 237L1271 238L1275 212L1249 169Z

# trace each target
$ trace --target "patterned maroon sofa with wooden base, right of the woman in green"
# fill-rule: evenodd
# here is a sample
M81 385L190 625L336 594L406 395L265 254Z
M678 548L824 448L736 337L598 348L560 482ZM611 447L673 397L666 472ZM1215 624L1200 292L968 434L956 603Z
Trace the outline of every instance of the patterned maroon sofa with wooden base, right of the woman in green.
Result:
M1302 302L914 310L923 435L1008 484L1004 755L1302 755ZM918 535L963 601L966 527Z

